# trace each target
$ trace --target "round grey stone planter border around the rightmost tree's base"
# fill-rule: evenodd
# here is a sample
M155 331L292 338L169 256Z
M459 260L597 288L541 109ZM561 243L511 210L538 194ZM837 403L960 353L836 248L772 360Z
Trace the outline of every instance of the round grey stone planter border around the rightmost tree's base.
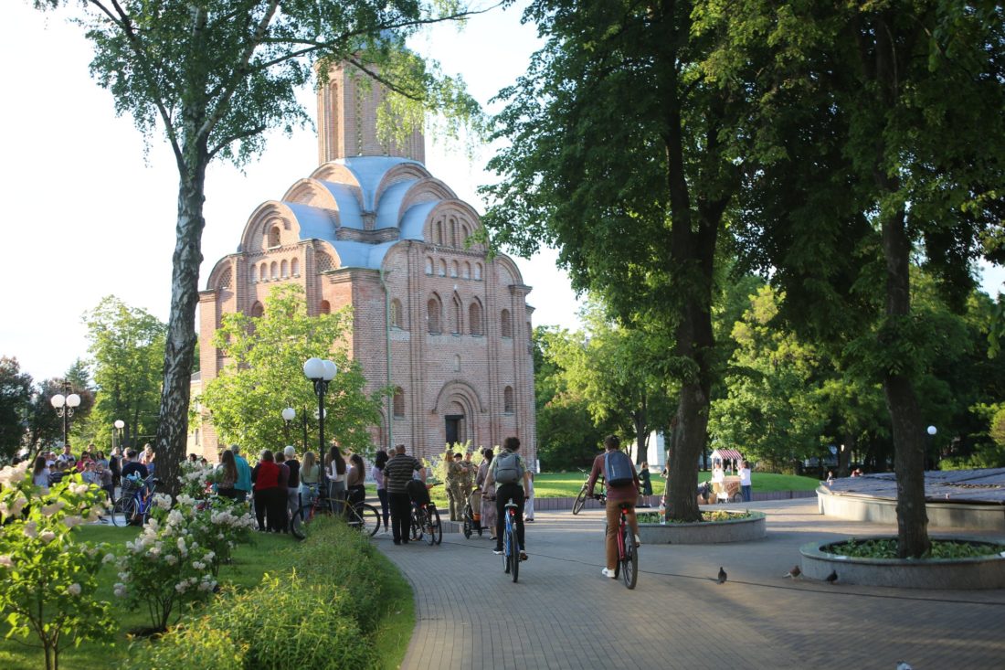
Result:
M855 539L882 539L890 535L868 535ZM850 539L850 538L846 538ZM997 538L966 535L933 536L933 539L996 543ZM858 558L830 553L825 548L844 540L809 542L800 547L803 576L824 579L837 572L838 583L896 589L1003 589L1005 551L974 558ZM1000 540L998 540L1000 543ZM1005 547L1003 547L1005 548Z

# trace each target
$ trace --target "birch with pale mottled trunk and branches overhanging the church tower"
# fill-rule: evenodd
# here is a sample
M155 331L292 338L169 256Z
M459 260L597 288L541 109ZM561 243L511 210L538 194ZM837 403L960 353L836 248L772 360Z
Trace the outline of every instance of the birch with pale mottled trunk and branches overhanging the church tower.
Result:
M294 93L311 80L313 62L324 77L328 63L348 61L362 79L388 88L402 134L426 110L470 119L476 105L463 87L405 48L419 26L465 12L459 0L32 1L80 5L98 83L112 92L117 112L130 114L145 136L163 131L174 152L178 216L156 440L173 488L187 437L210 162L245 163L261 151L266 131L305 122Z

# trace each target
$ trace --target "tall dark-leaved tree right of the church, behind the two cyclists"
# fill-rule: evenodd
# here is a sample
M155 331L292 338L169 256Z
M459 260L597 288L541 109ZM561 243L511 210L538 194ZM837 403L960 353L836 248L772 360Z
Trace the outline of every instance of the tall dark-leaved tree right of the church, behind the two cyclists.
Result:
M696 65L693 3L538 0L546 46L499 97L483 192L495 240L560 248L578 290L667 333L657 369L680 380L667 513L696 520L697 461L716 377L712 301L724 215L739 186L728 142L740 109Z

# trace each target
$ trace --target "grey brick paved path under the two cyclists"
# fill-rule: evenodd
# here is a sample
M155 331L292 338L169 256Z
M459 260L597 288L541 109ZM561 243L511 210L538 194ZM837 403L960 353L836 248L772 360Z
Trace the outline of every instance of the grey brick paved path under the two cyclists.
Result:
M916 670L1005 667L1005 591L784 578L805 542L895 529L822 517L816 501L750 507L769 514L768 539L645 545L635 591L600 574L599 511L538 512L527 524L531 559L516 584L487 534L446 534L438 547L394 546L378 535L415 592L416 627L402 667L893 670L899 660ZM730 575L722 585L721 564Z

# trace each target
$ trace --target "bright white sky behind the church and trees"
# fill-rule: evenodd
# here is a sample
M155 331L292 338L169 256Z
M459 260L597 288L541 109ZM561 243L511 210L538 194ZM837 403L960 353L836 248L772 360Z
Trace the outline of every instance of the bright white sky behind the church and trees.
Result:
M16 356L36 380L61 375L86 356L84 312L115 295L167 320L175 242L178 177L160 136L149 151L129 117L115 116L110 93L88 72L91 47L65 12L43 14L28 0L4 3L8 26L0 40L5 104L0 106L0 197L7 283L0 292L0 355ZM536 29L520 10L495 9L460 31L442 27L413 47L460 74L483 106L526 69L539 48ZM308 88L301 101L314 118ZM498 107L488 107L489 110ZM471 157L426 137L426 167L479 212L478 185L488 147ZM279 199L318 164L313 128L269 137L244 173L215 162L206 180L206 229L199 288L216 262L236 249L248 216ZM13 241L13 243L11 243ZM536 325L577 328L579 303L567 275L548 250L516 259Z

